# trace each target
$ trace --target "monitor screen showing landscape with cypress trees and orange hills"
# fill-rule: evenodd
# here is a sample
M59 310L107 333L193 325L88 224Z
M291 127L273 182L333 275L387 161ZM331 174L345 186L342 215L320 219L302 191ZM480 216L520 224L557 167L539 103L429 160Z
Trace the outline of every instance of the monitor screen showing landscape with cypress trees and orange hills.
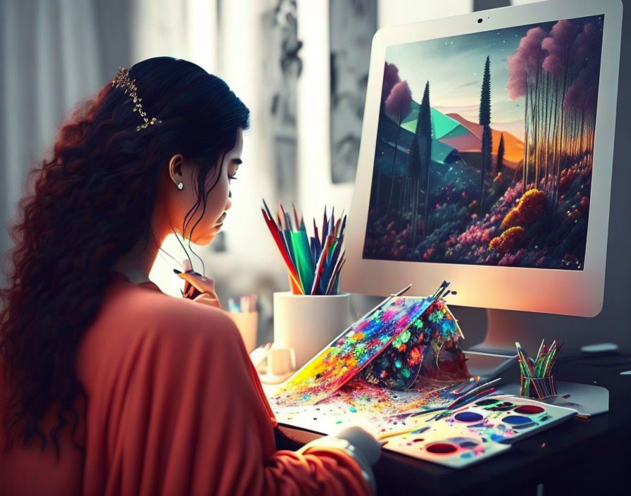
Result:
M363 259L582 271L603 25L386 46Z

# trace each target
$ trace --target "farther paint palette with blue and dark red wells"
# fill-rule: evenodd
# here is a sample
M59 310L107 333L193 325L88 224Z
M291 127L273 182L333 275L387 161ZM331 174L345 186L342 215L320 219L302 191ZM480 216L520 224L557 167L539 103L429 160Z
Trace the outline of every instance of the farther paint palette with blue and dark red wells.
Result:
M444 426L466 426L472 433L496 442L515 442L570 419L576 411L511 395L486 397L433 421Z

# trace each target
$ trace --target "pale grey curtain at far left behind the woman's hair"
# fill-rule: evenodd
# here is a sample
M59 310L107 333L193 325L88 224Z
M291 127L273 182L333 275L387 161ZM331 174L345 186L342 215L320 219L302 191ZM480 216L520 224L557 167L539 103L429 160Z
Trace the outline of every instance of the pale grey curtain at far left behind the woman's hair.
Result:
M104 82L94 1L0 3L0 218L17 213L27 172L52 146L58 124ZM13 246L1 231L2 253ZM4 283L4 281L3 281Z

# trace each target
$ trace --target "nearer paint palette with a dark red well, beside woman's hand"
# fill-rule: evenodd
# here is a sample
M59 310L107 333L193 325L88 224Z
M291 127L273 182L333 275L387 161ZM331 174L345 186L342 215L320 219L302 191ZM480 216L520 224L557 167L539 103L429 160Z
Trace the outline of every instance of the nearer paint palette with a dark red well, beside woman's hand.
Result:
M509 450L510 445L472 433L466 426L425 426L387 438L385 450L461 469Z

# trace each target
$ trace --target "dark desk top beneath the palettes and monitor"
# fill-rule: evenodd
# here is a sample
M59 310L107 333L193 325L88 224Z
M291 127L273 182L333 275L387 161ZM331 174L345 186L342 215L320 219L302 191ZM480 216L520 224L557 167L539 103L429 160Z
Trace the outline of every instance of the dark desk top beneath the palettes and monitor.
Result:
M591 419L574 417L466 469L449 469L383 450L374 467L377 494L631 494L631 376L620 376L631 368L631 361L623 363L625 359L611 354L580 361L561 357L556 365L558 380L606 387L608 413ZM318 437L280 426L277 442L279 447L296 449Z

